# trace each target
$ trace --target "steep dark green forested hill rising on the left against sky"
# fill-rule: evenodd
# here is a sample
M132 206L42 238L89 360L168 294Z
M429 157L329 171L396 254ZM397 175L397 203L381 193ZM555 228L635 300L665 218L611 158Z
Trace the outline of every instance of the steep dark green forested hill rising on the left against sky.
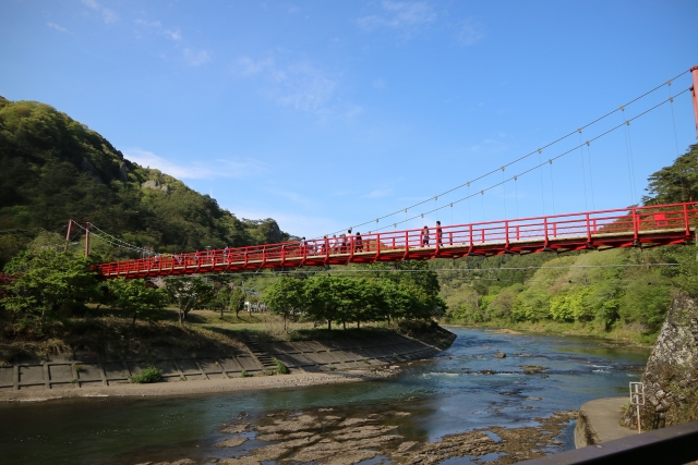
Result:
M69 219L159 252L289 237L273 219L239 219L208 195L130 162L95 131L36 101L0 97L0 267Z

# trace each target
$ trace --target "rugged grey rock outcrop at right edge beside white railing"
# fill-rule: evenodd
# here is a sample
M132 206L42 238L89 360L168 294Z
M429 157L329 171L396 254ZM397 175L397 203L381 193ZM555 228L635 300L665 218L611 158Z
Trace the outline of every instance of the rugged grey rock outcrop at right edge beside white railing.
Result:
M690 412L686 409L695 408L697 374L698 303L679 294L672 303L642 375L646 395L640 409L642 429L690 419ZM628 409L624 424L637 427L635 415L635 408Z

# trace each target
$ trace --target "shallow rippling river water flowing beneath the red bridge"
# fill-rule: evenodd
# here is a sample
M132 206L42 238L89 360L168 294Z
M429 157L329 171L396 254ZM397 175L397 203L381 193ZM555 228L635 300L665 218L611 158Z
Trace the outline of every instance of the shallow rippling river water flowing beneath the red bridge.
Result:
M214 444L241 414L334 407L400 409L397 432L414 441L489 426L535 425L592 399L625 395L649 351L590 338L498 334L449 328L458 338L434 359L388 379L288 390L148 399L75 399L0 404L0 463L137 464L239 455ZM506 358L495 358L504 352ZM527 374L526 367L543 367ZM531 368L529 368L529 371ZM535 369L533 369L534 371ZM396 423L397 421L397 423ZM570 425L561 440L573 449ZM372 462L373 463L373 462ZM468 462L464 462L468 463Z

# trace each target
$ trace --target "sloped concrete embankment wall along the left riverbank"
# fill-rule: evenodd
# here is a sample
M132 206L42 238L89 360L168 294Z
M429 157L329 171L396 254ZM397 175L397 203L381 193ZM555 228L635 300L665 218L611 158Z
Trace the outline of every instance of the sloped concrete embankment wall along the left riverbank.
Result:
M232 380L240 378L243 370L254 375L276 368L274 358L291 370L330 371L428 358L441 352L433 345L397 333L327 341L244 342L246 350L231 347L226 353L185 353L172 347L153 347L149 359L105 359L91 353L71 353L49 360L16 360L0 367L0 392L129 383L130 376L149 366L160 368L167 382Z

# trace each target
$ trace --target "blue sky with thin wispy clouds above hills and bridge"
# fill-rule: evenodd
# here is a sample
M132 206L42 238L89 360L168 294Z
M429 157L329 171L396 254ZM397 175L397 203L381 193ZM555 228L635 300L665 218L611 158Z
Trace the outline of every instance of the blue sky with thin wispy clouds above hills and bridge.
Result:
M308 237L623 208L696 143L696 1L4 0L0 95ZM673 111L673 118L672 118ZM674 124L675 121L675 124ZM356 230L354 230L356 231Z

